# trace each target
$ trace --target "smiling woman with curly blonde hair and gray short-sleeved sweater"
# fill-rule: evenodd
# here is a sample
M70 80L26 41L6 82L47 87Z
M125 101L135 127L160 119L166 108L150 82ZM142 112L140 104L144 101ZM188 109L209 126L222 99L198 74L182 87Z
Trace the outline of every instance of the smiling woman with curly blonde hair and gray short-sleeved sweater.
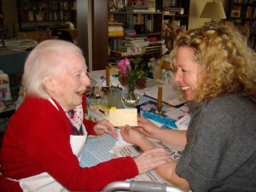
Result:
M193 116L188 131L138 119L144 136L185 146L179 162L156 171L182 189L256 191L255 53L229 26L206 26L178 34L171 55ZM126 141L153 148L137 131L122 129Z

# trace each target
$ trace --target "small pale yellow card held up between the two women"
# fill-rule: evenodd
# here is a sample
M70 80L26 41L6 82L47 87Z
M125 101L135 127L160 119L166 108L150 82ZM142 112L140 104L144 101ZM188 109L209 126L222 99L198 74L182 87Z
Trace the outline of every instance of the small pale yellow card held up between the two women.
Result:
M113 126L137 126L137 108L110 110L109 122Z

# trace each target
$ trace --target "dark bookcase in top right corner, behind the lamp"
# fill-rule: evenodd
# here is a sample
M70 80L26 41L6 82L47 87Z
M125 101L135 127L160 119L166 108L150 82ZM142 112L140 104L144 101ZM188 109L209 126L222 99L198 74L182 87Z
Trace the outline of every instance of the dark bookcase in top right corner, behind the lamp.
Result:
M249 27L248 44L256 49L256 0L230 0L227 18L238 27Z

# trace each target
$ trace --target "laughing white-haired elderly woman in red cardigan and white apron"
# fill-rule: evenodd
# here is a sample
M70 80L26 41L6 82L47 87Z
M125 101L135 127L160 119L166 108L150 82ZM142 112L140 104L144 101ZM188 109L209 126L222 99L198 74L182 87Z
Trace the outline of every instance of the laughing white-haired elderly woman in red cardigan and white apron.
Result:
M170 162L162 148L137 158L79 166L87 135L116 132L108 120L84 119L90 84L81 50L48 40L32 50L23 76L26 99L9 120L1 151L0 191L96 191Z

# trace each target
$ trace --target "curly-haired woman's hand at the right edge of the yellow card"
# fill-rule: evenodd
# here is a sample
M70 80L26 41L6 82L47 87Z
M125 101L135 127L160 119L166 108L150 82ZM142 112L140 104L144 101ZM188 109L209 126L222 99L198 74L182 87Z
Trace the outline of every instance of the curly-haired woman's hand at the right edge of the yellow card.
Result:
M137 131L139 131L146 137L150 137L154 139L157 138L156 136L159 134L161 130L160 127L158 127L157 125L154 125L154 123L152 123L150 120L145 118L138 118L137 122L138 122Z

